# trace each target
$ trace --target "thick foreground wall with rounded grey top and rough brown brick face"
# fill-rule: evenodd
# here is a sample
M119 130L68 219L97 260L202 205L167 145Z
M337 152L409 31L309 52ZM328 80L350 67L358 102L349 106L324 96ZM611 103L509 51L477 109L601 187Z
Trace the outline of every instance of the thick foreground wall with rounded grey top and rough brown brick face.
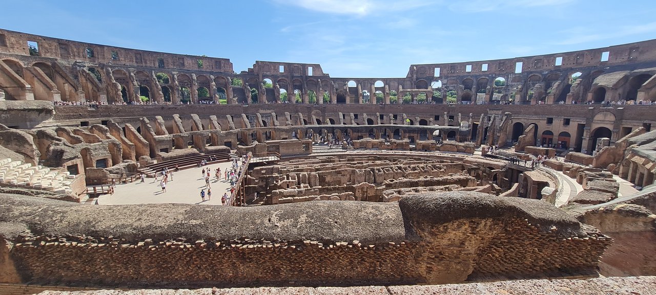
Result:
M5 269L37 285L348 286L590 275L610 243L543 201L475 192L276 210L0 200ZM3 273L0 283L20 282Z

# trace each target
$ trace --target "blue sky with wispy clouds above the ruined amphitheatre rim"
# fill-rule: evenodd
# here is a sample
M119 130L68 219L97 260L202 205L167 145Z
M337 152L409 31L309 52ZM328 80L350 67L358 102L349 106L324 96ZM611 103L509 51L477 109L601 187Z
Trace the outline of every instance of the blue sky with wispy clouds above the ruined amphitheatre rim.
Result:
M412 63L493 60L656 39L656 1L3 0L0 27L127 48L319 63L405 77Z

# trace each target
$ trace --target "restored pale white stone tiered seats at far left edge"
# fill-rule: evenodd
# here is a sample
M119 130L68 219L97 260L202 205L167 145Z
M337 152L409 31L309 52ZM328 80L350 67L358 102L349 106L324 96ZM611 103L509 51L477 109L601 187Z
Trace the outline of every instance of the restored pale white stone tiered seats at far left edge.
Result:
M59 194L72 194L70 185L75 175L58 172L42 165L34 166L9 158L0 160L0 182L16 186L31 186Z

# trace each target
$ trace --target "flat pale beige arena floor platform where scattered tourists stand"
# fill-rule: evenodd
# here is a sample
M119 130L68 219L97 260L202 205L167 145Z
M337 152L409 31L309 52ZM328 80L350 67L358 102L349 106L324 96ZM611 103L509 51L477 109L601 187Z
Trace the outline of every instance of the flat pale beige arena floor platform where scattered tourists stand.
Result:
M203 204L203 205L221 205L221 196L228 192L230 196L230 182L223 177L224 171L232 166L232 162L211 164L205 167L194 167L182 169L173 173L173 181L169 180L166 186L167 192L162 192L159 187L159 181L147 178L146 182L132 182L128 184L117 184L114 194L102 195L98 198L100 205L125 205L125 204L159 204L159 203L182 203L182 204ZM205 188L205 177L201 177L201 171L209 167L210 187L212 190L212 200L201 201L201 189ZM221 168L221 179L215 178L215 169ZM161 177L159 177L161 180ZM205 189L207 192L207 189Z

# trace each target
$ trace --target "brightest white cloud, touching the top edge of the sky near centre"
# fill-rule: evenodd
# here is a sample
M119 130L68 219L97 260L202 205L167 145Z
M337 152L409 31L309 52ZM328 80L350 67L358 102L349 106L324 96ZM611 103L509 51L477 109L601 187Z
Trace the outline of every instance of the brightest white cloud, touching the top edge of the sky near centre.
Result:
M294 5L303 9L329 14L367 16L375 12L398 12L434 5L441 0L274 0L282 5Z

